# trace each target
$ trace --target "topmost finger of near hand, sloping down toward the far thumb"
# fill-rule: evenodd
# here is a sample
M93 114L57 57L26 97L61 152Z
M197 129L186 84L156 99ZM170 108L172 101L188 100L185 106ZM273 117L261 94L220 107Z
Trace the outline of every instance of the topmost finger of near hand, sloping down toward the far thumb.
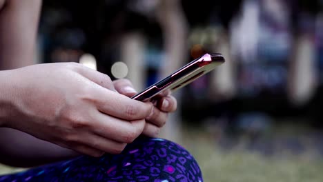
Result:
M104 87L108 90L115 91L115 87L113 86L112 81L107 74L92 70L81 64L77 64L77 68L75 70L83 77L86 77L90 81L97 83L97 85L100 85L101 87Z

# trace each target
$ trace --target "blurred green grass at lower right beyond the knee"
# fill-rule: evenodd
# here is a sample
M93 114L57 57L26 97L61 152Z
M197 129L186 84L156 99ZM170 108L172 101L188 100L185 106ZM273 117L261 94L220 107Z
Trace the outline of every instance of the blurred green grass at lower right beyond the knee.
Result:
M311 151L298 155L281 152L264 156L244 150L243 141L232 150L224 151L207 134L194 133L185 134L184 147L198 161L204 181L323 181L323 158Z

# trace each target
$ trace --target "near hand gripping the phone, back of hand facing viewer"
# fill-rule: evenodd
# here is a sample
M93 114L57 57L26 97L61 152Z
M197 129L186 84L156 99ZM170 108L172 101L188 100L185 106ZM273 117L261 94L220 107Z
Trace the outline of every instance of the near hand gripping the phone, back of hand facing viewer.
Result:
M31 65L0 76L8 78L0 88L2 126L91 156L124 150L153 110L117 93L106 74L78 63Z

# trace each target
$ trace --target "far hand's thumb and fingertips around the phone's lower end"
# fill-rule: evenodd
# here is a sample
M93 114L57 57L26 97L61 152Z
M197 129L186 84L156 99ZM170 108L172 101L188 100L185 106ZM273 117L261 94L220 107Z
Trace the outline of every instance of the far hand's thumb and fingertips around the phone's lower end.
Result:
M133 85L128 79L118 79L113 81L115 90L120 94L128 97L133 97L137 94L133 89ZM168 113L174 112L177 109L177 101L175 97L170 95L170 92L159 94L157 100L153 103L153 111L146 117L146 125L143 134L151 137L157 137L161 128L165 125L168 119Z

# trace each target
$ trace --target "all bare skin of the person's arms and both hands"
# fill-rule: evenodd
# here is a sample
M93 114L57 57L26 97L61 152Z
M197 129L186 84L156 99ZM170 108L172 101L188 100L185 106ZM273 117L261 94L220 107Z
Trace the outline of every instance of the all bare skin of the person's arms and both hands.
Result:
M40 6L0 0L0 162L30 167L118 154L140 134L157 136L177 108L170 94L142 103L129 98L136 91L126 79L78 63L30 65Z

